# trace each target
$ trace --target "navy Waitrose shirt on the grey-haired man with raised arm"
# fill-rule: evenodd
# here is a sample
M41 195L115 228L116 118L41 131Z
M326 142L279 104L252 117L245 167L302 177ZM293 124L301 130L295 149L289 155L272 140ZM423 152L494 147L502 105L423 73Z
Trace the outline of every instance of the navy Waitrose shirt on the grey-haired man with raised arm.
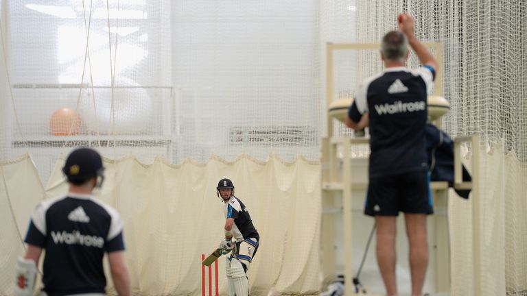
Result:
M431 66L391 67L359 87L348 115L358 122L368 112L370 177L427 169L427 99L434 76Z

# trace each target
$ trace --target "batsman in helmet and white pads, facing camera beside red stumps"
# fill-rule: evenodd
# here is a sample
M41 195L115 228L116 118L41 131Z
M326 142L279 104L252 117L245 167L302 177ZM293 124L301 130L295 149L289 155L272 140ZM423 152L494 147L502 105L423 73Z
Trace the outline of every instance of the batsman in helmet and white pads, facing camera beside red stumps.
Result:
M250 219L250 214L241 200L234 195L234 184L222 179L216 187L218 197L224 203L225 239L220 243L222 249L232 249L226 258L226 275L229 282L229 295L249 294L247 272L250 262L255 258L260 236ZM233 240L233 242L232 242Z

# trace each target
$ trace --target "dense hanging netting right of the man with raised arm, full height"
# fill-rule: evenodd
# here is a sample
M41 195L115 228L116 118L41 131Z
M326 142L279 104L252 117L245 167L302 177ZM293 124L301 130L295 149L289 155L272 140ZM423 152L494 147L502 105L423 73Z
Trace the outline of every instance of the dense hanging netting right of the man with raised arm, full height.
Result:
M443 93L451 104L447 131L482 139L482 241L472 242L482 249L480 293L527 295L525 184L519 181L525 180L527 160L525 2L412 1L409 10L423 24L418 34L444 45ZM453 220L467 214L455 208L459 202L450 206ZM461 225L467 224L451 225L452 245L460 251L457 258L470 258ZM465 260L452 260L452 270L463 269L459 264ZM476 284L472 275L453 276L453 292ZM459 295L471 295L465 292Z

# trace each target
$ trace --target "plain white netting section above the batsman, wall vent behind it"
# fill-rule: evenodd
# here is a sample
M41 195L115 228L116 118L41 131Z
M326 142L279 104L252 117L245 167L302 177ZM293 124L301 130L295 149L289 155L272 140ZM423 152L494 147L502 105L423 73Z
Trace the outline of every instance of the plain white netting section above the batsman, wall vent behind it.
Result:
M176 1L175 161L318 159L316 1Z

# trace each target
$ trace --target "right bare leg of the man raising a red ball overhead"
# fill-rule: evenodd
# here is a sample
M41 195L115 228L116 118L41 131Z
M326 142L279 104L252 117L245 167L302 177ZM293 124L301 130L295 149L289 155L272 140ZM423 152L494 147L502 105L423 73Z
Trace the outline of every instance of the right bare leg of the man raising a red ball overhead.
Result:
M423 295L426 268L428 266L428 240L426 236L426 215L405 214L406 234L410 244L410 274L412 275L412 296Z

